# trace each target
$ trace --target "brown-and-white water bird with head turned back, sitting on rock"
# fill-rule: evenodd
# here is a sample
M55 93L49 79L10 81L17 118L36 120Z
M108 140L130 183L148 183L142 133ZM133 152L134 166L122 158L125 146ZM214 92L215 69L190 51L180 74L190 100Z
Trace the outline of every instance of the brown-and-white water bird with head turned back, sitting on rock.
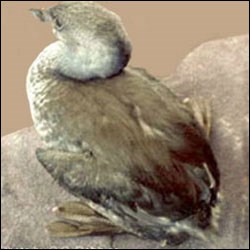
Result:
M220 171L207 102L181 100L145 69L118 15L92 1L31 9L57 41L35 59L27 95L36 157L79 201L53 209L54 237L116 235L180 244L204 238Z

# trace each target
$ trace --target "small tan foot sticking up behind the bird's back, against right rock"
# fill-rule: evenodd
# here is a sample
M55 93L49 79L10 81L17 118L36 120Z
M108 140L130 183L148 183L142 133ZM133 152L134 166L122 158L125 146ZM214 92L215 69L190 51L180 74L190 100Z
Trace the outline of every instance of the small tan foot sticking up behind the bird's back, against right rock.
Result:
M206 138L209 139L212 124L210 102L202 97L186 98L183 102L189 105L189 107L193 111L193 115L196 121L199 123L201 128L203 128Z

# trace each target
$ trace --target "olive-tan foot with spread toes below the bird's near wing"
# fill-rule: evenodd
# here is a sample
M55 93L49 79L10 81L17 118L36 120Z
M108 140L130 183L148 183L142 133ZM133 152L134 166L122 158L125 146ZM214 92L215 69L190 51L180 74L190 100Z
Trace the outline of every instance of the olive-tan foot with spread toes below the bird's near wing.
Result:
M114 235L123 232L121 228L82 202L67 202L53 208L52 211L58 220L47 226L51 237L71 238L89 235Z

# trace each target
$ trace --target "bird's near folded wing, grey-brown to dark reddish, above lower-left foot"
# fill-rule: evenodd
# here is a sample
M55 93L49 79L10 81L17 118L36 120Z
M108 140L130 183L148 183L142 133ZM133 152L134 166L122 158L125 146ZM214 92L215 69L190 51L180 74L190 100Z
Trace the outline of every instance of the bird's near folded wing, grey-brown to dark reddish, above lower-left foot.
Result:
M171 219L195 213L201 196L209 199L208 186L191 165L194 161L180 157L174 155L171 166L152 165L150 172L133 166L133 172L124 173L98 166L87 152L37 150L37 158L46 170L74 195L105 206L112 200L133 211L140 208L151 215Z

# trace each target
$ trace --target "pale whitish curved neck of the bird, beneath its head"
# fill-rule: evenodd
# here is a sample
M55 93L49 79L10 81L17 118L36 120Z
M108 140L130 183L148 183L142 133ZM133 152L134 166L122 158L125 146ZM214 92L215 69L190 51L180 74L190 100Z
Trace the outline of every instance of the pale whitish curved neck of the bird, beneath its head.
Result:
M82 81L106 78L117 73L113 53L101 44L91 48L69 47L60 41L45 48L33 67L39 68L41 74L54 71Z

